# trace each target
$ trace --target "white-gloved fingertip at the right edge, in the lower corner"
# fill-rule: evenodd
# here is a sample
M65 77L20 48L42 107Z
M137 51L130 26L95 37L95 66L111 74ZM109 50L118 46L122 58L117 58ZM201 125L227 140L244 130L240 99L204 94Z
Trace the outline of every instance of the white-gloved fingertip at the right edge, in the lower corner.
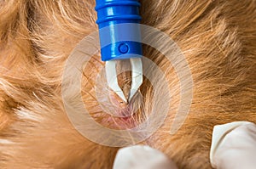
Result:
M210 159L217 169L255 169L256 125L241 121L214 127Z

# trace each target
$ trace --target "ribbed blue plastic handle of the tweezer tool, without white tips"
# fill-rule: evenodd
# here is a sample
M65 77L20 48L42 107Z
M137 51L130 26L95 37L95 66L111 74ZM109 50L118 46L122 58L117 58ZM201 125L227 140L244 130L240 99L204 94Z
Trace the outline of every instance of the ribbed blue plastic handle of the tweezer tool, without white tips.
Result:
M137 0L96 0L96 23L99 26L103 61L127 59L143 54L139 7ZM106 46L105 42L110 44Z

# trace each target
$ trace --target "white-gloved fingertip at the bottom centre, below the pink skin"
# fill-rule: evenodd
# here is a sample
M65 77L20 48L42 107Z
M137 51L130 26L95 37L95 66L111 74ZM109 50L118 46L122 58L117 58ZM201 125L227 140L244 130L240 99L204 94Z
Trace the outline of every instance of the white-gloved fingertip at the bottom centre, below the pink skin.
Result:
M159 150L135 145L119 149L113 169L177 169L177 166Z

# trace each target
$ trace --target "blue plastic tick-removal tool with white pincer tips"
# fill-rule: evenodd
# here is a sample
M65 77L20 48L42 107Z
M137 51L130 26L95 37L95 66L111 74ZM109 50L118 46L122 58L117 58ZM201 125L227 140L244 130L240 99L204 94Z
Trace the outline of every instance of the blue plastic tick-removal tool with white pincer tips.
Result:
M142 44L137 0L96 0L102 61L106 61L108 86L125 102L131 101L143 83ZM117 59L130 59L131 91L126 99L119 87Z

